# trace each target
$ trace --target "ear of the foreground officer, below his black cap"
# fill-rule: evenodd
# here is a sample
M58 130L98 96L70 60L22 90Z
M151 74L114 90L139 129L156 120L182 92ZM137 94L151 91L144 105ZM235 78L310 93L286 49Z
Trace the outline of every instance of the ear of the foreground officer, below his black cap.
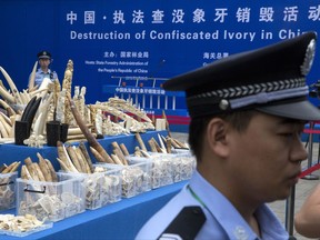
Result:
M220 118L213 118L207 127L207 141L216 154L227 157L229 154L229 137L230 126Z

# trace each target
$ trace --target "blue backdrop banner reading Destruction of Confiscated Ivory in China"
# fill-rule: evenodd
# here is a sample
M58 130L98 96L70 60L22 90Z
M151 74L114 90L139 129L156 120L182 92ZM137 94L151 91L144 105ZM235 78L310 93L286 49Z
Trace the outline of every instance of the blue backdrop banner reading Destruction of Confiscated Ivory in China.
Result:
M22 91L37 52L48 50L60 81L73 61L72 84L87 87L87 103L118 94L151 112L183 110L183 94L161 89L167 79L318 31L319 21L319 0L2 0L0 66ZM319 79L319 59L318 48L310 84Z

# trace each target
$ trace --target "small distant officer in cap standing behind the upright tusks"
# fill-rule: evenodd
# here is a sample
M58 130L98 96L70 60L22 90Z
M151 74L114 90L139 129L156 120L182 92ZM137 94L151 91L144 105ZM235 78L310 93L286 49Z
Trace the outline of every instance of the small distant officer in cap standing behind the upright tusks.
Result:
M58 79L58 76L56 71L52 71L49 68L50 63L52 62L50 52L41 51L37 54L37 57L40 68L36 72L34 86L38 86L39 88L44 78L54 81L56 79Z

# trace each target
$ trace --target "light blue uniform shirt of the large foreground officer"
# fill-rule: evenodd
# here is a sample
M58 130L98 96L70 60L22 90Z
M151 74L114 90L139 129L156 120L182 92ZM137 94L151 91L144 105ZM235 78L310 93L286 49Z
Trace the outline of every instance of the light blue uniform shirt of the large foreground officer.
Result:
M196 238L198 240L259 239L231 202L203 179L199 172L194 172L189 184L197 197L206 204L206 208L186 186L143 226L136 237L137 240L151 240L160 237L186 206L199 206L206 214L207 220ZM268 206L262 204L257 210L256 216L263 240L289 239L288 232Z

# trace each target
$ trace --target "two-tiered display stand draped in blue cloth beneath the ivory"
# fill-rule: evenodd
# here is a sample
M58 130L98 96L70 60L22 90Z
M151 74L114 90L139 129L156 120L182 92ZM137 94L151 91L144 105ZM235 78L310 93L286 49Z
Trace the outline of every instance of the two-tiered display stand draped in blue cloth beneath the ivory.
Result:
M158 134L167 137L167 131L148 131L140 133L147 142L151 138L158 139ZM99 143L108 151L112 151L112 142L124 143L131 153L139 146L134 134L106 137L99 139ZM77 143L74 143L77 144ZM88 147L88 142L86 142ZM147 146L148 148L148 146ZM28 157L38 161L37 152L49 159L58 171L60 166L57 161L58 151L56 147L30 148L17 144L1 144L0 160L7 164L21 161ZM89 151L90 152L90 151ZM92 157L92 160L96 161ZM161 187L132 198L121 199L119 202L106 207L87 210L83 213L54 222L53 228L21 237L19 239L134 239L143 223L164 206L187 181ZM0 213L16 213L16 209L0 211ZM17 237L0 236L1 240L13 240Z

